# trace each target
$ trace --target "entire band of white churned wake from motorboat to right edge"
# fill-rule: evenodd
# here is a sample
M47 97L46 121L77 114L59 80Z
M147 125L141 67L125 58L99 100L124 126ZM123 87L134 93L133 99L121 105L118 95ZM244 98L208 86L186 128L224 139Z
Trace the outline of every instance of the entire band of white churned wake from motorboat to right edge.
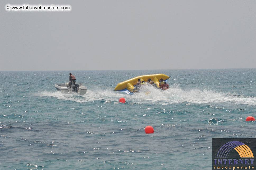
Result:
M127 95L122 92L113 91L112 89L88 89L85 95L77 93L65 94L56 92L41 92L38 96L51 96L60 100L69 100L74 102L92 102L100 101L104 103L118 104L120 97L124 97L126 103L149 103L167 105L172 103L225 103L256 105L256 97L237 95L236 93L216 92L211 89L181 89L179 85L174 84L166 91L155 89L151 86L145 86L139 93Z

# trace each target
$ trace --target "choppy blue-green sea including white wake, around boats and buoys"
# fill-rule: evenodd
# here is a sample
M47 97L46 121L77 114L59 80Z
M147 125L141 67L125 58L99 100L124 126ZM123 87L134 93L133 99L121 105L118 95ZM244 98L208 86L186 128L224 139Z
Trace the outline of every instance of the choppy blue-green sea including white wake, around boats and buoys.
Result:
M83 96L55 89L69 72L0 72L0 169L212 169L212 138L256 138L256 69L71 71ZM157 73L170 89L113 91Z

